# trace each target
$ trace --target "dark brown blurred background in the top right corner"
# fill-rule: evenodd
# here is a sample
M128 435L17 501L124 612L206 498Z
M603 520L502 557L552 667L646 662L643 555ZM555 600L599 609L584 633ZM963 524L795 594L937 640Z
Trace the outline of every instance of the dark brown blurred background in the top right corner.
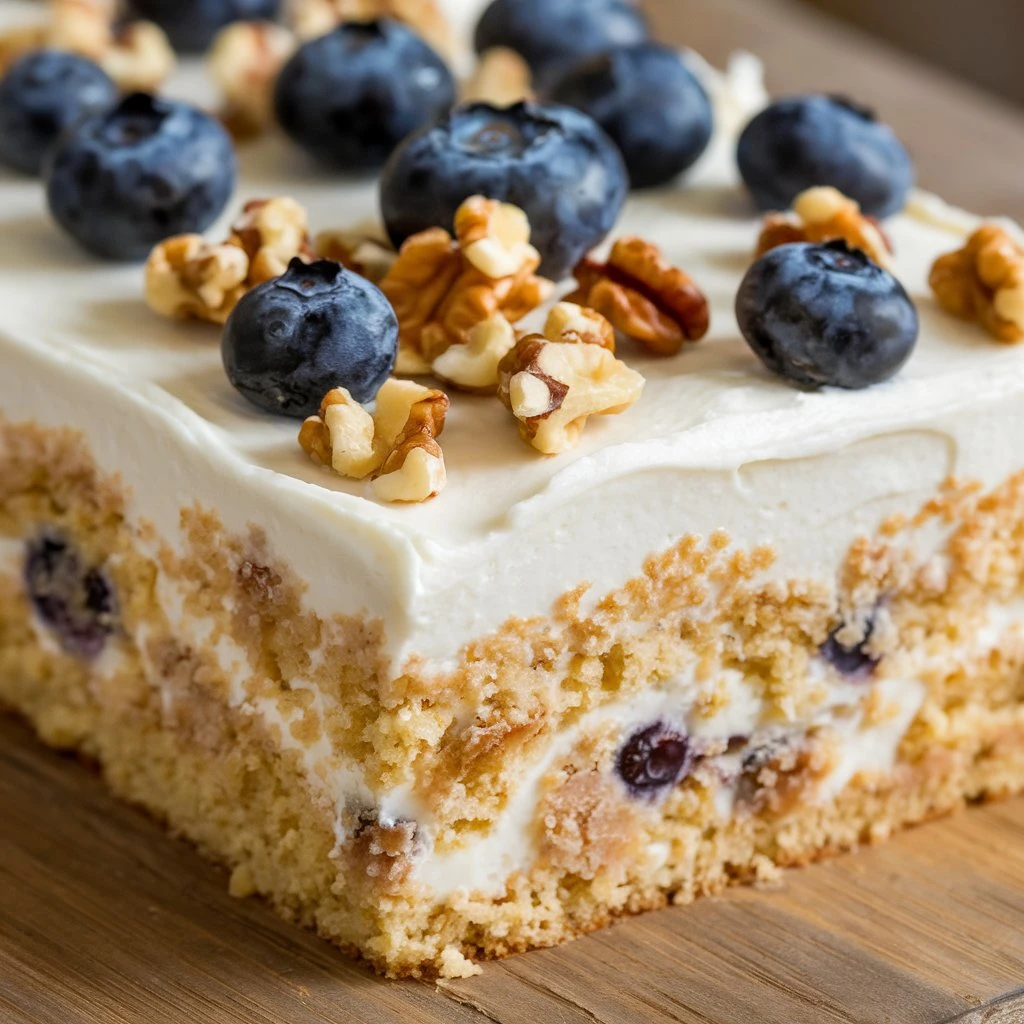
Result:
M1024 0L800 2L1024 104Z

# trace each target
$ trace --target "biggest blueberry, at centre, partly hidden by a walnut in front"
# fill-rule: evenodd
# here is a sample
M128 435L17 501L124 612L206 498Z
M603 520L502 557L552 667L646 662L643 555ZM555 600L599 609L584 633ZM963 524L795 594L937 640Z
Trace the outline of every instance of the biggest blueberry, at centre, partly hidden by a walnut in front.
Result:
M381 212L395 245L453 228L470 196L526 212L541 272L568 275L611 230L629 193L615 144L580 111L554 104L461 106L407 139L384 169Z

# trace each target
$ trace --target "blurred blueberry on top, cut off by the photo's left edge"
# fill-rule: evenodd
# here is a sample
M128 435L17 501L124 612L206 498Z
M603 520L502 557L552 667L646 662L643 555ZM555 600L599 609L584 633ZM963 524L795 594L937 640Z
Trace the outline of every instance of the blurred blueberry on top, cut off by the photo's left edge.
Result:
M0 163L39 174L43 158L72 125L111 110L118 88L85 57L37 50L0 80Z

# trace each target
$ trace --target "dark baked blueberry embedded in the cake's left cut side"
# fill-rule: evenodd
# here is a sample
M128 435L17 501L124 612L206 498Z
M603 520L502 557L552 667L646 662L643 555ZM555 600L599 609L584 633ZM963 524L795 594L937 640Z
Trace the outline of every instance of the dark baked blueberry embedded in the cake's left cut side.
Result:
M87 659L102 653L117 621L114 590L67 538L47 530L29 542L25 587L36 614L67 653Z

